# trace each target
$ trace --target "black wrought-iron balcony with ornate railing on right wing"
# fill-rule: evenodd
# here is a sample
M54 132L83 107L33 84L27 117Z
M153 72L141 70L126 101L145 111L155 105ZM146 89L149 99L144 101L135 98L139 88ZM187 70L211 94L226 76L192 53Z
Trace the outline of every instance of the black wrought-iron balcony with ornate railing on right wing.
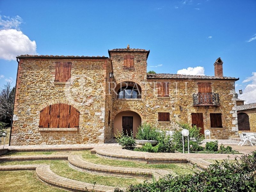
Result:
M195 93L193 94L194 106L220 106L218 93Z

